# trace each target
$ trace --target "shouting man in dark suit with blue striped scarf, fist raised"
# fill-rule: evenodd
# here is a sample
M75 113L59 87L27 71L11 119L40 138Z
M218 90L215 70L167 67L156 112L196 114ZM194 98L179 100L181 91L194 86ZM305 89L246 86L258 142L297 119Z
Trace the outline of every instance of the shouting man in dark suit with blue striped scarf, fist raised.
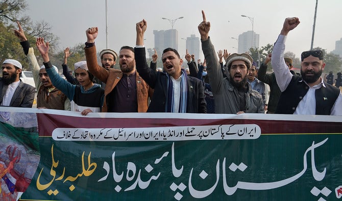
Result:
M176 49L163 50L164 72L148 67L143 44L146 28L144 19L136 23L135 61L141 77L154 89L148 112L207 113L203 84L196 77L187 76Z

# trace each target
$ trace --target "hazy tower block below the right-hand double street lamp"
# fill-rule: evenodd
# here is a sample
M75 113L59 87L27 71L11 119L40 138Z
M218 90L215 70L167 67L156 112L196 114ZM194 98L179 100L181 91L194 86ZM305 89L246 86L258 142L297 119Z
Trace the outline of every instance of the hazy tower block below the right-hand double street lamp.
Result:
M253 45L252 45L252 36L253 36ZM254 31L243 32L239 35L239 46L238 53L244 53L250 50L250 48L258 48L259 47L259 34L256 34Z

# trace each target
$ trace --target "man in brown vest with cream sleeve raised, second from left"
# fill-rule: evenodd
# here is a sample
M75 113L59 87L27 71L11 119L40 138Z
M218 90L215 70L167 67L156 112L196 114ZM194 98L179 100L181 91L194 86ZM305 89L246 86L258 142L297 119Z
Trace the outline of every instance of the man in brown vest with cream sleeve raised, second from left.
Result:
M46 73L45 66L39 67L33 47L30 47L30 43L18 21L17 24L18 30L14 30L14 35L20 40L22 49L29 61L29 68L32 71L37 88L37 108L70 110L70 100L52 84L50 77ZM54 69L58 73L56 66L54 66Z

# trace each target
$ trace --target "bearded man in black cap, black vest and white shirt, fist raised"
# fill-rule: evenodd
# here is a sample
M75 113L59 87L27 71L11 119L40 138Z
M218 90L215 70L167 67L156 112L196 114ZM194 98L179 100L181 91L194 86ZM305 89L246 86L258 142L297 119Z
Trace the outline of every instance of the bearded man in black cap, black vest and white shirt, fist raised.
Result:
M284 61L287 34L300 23L299 18L286 18L272 52L272 67L282 92L276 113L342 115L341 92L323 81L325 67L322 50L302 52L301 75L292 75Z

